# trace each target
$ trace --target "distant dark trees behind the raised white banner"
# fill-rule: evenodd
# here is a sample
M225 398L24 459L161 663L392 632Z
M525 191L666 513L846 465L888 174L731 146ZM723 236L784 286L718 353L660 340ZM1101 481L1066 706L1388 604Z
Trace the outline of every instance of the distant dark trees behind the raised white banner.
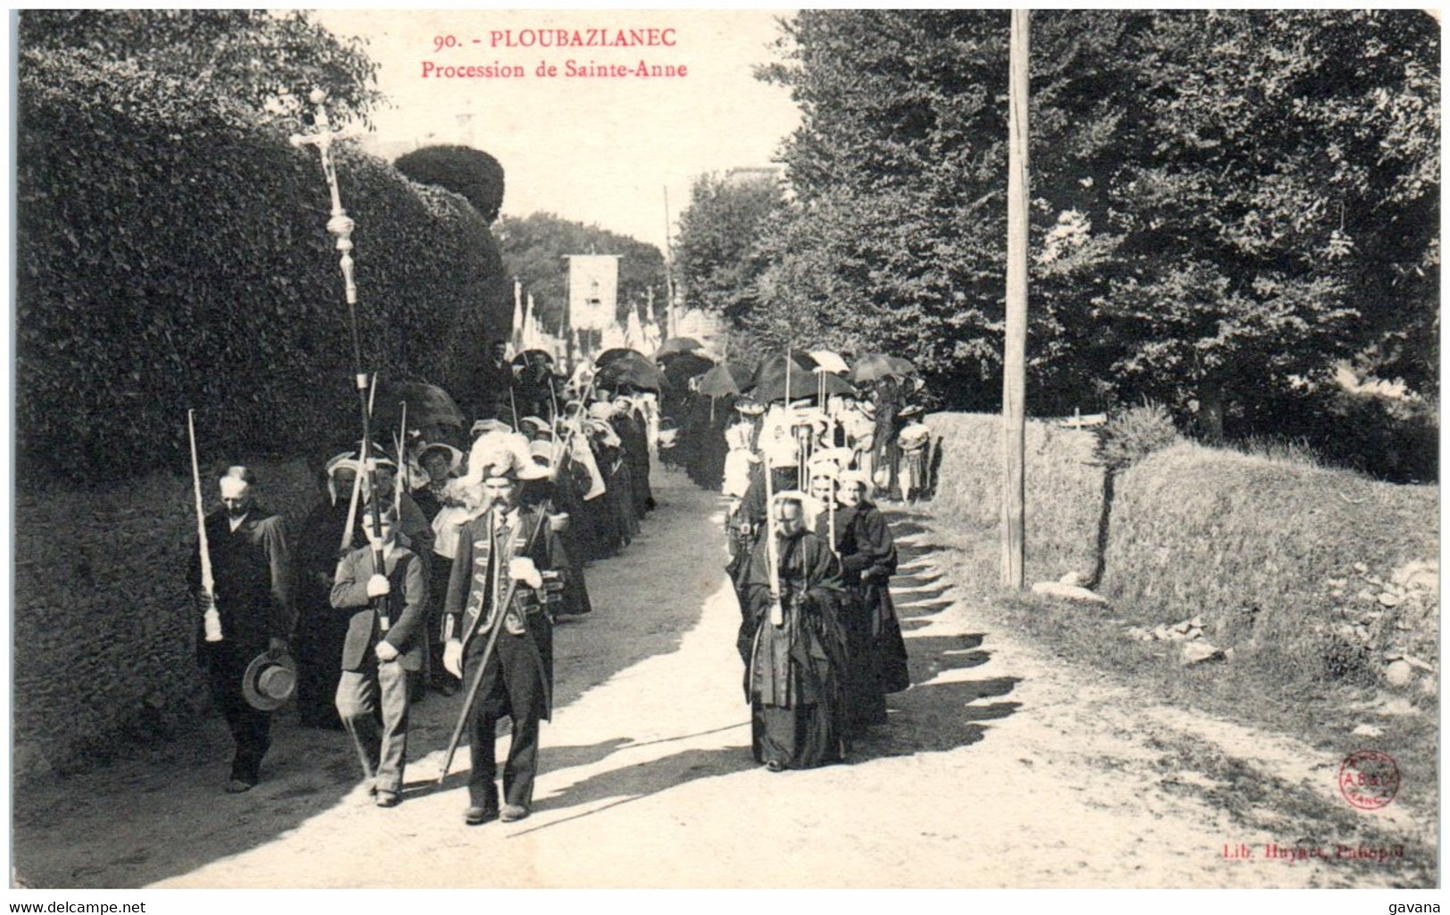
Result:
M505 270L534 296L535 315L547 331L557 331L564 319L570 254L619 255L618 319L628 318L629 309L641 312L651 300L664 307L664 255L654 245L554 213L505 216L493 232Z

